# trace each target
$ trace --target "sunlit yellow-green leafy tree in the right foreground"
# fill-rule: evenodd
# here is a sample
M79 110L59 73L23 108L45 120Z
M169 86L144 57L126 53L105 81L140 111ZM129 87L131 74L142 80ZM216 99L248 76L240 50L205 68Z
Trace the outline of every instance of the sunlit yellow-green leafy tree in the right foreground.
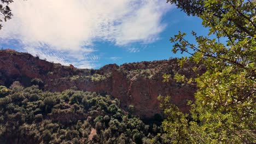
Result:
M197 44L179 32L170 41L174 53L189 53L179 63L202 64L205 74L189 79L176 74L179 82L197 83L190 114L182 113L160 97L167 118L162 123L173 143L254 143L256 86L256 2L242 0L170 0L188 15L198 16L209 28L208 36L194 35ZM224 42L222 42L224 41ZM189 67L189 65L187 65ZM165 76L168 77L168 76Z

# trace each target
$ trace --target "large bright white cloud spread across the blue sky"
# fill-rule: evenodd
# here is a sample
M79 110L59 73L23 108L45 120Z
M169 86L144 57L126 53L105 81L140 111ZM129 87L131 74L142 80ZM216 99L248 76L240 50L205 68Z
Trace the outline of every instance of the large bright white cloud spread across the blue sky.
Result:
M3 23L1 41L16 39L33 55L89 68L99 59L90 54L95 40L125 46L158 39L170 5L160 0L31 0L15 1L11 9L14 16Z

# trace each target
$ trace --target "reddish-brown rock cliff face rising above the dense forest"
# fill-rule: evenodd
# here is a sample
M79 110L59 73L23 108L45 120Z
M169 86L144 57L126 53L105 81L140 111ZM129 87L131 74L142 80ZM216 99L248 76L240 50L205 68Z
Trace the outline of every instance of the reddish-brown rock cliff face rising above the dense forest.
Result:
M177 71L194 76L189 69L179 68L177 59L129 63L120 67L109 64L93 70L66 67L27 53L0 50L0 85L8 86L18 80L30 86L30 80L38 78L44 81L43 89L47 91L64 91L75 86L83 91L110 94L120 100L124 109L134 105L136 114L142 117L161 113L158 95L170 95L182 111L189 110L187 100L193 100L196 87L173 79L162 82L164 73L173 76ZM204 70L199 67L199 71L203 73Z

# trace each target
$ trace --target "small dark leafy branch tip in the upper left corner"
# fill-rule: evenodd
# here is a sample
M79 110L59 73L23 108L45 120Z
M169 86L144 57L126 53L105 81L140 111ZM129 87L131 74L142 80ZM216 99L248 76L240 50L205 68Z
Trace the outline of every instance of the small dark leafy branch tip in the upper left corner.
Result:
M9 19L11 19L11 16L13 16L13 14L11 14L11 9L9 7L9 4L12 3L13 0L1 0L0 3L0 22L7 21ZM2 24L0 23L0 29L2 29Z

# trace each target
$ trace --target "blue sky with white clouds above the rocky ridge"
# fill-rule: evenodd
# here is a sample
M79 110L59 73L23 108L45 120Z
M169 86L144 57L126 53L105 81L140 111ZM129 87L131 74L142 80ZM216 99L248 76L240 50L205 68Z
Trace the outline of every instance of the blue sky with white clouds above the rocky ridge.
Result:
M207 34L198 17L164 0L20 0L10 8L2 49L77 68L181 57L171 51L174 34Z

